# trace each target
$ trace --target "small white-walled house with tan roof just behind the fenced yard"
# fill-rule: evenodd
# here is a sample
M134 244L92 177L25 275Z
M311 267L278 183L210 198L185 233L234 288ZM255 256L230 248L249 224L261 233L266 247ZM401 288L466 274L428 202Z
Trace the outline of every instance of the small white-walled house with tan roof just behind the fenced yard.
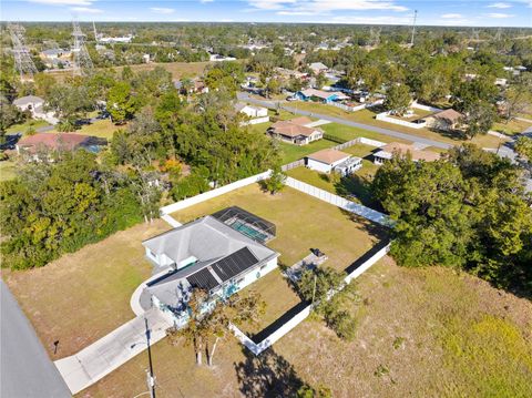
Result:
M326 149L305 156L305 165L320 173L349 175L362 166L362 160L349 153Z

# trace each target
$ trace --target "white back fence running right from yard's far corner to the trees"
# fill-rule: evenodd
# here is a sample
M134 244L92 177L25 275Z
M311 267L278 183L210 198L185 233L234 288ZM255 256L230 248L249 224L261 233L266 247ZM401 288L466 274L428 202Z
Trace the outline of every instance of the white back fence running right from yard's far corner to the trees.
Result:
M330 192L304 183L303 181L287 177L285 184L310 196L317 197L324 202L330 203L331 205L344 208L345 211L358 214L359 216L378 223L380 225L391 226L391 221L386 214L362 206L361 204L348 201L341 196L331 194Z

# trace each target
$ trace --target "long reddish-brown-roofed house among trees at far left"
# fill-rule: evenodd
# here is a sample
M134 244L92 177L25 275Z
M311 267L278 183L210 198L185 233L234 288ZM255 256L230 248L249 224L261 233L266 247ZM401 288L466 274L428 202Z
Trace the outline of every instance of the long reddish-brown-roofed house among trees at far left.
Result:
M17 153L30 154L31 160L39 161L39 151L75 151L86 149L98 152L100 146L106 144L106 140L91 135L71 133L37 133L23 136L16 145Z

